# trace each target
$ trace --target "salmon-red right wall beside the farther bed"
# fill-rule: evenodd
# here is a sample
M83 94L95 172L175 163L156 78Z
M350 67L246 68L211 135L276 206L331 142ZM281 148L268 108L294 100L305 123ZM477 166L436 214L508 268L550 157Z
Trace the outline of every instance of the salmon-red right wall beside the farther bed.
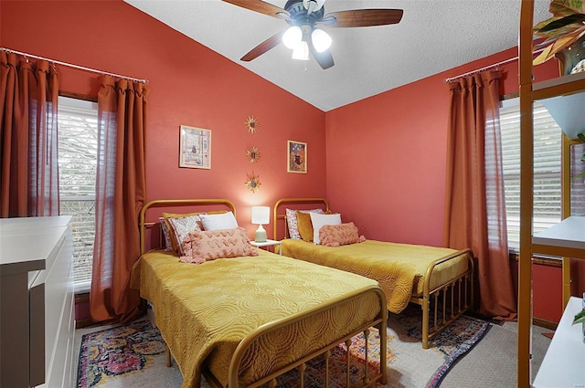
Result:
M449 93L445 79L516 56L516 48L326 114L327 193L367 238L441 246ZM503 65L502 95L518 90ZM557 74L551 61L537 79Z

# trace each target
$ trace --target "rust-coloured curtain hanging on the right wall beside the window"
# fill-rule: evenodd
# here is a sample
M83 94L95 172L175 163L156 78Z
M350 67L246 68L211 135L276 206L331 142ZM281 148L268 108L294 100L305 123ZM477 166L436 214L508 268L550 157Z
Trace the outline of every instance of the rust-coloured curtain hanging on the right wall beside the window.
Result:
M479 312L512 320L516 300L505 225L499 79L500 73L491 71L447 84L451 101L443 243L472 248Z

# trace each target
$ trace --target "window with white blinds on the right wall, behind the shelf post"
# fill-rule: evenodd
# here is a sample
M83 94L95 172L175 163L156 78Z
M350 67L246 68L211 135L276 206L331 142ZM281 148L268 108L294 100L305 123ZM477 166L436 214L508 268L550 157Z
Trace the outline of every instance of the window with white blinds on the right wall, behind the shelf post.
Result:
M520 111L519 100L505 100L500 110L508 246L520 246ZM534 102L533 233L561 219L560 163L562 132L539 102Z

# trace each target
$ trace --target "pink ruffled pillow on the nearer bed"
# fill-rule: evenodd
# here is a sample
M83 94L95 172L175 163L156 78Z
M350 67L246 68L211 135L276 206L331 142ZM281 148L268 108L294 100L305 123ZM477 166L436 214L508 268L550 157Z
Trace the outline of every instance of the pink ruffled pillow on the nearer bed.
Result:
M193 231L183 241L182 263L205 263L220 257L258 256L243 227Z

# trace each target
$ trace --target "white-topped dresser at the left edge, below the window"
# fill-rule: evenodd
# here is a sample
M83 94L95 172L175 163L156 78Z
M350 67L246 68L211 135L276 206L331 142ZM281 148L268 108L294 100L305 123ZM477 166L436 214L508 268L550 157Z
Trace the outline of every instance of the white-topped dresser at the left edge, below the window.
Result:
M75 385L69 216L0 219L0 386Z

